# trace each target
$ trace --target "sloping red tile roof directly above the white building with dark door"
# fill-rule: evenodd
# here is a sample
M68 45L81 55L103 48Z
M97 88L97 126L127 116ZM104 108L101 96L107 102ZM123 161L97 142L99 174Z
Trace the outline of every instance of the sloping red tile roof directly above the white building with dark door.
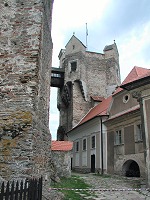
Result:
M112 100L112 96L108 97L107 99L104 99L101 103L96 105L94 108L92 108L85 116L84 118L79 122L78 125L83 124L90 119L93 119L96 116L103 116L107 115L107 110L109 108L110 102ZM77 125L77 126L78 126Z

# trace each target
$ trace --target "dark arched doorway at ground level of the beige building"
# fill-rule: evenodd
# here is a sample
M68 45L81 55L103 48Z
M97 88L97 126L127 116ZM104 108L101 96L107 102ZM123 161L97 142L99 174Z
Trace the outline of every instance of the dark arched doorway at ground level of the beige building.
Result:
M127 160L122 167L123 175L127 177L140 177L140 168L134 160Z

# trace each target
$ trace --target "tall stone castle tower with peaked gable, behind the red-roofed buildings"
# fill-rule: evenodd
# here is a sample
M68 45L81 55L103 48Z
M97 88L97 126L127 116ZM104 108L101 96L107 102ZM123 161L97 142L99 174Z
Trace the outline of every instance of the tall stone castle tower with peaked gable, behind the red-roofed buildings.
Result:
M117 45L105 46L103 53L86 51L86 46L74 35L59 54L64 85L58 90L60 124L57 139L67 139L65 133L79 123L92 107L93 97L106 98L120 85Z

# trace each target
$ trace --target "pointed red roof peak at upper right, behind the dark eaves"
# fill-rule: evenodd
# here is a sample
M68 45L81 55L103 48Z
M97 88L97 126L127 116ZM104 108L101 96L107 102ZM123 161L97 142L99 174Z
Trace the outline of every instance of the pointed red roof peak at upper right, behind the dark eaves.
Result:
M121 92L123 90L122 89L123 85L131 83L131 82L136 81L136 80L139 80L139 79L144 78L144 77L149 76L149 75L150 75L149 69L134 66L133 69L128 74L128 76L122 82L121 86L117 88L117 90L114 92L113 95Z

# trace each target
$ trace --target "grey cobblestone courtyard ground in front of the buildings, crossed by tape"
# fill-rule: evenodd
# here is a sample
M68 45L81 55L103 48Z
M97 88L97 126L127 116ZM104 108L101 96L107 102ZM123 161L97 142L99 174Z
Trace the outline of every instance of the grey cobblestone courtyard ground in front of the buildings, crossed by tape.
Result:
M91 185L90 196L84 196L83 199L89 200L150 200L150 192L145 188L145 180L141 178L127 178L120 176L98 176L94 174L76 174L80 176L86 183ZM135 189L138 189L135 191ZM141 191L139 189L141 188ZM110 191L105 191L109 189ZM116 189L116 191L112 191ZM125 191L119 191L124 189ZM130 189L131 191L128 191ZM80 191L77 191L80 194Z

